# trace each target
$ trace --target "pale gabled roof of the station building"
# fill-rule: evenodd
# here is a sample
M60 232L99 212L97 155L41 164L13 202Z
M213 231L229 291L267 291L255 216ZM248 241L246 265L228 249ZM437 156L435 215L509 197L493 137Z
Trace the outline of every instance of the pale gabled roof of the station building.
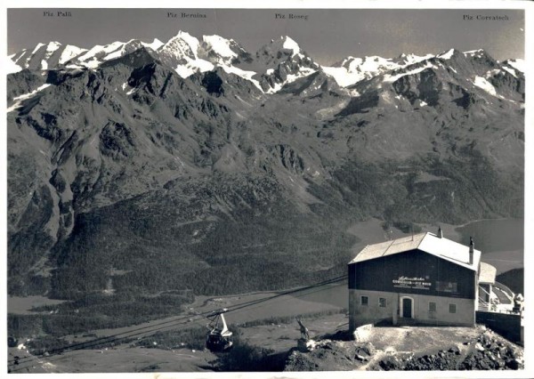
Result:
M479 262L481 262L480 250L474 250L473 263L469 264L469 246L458 244L447 238L439 238L433 233L426 232L365 246L349 264L369 261L415 249L433 254L441 259L474 271L478 270Z

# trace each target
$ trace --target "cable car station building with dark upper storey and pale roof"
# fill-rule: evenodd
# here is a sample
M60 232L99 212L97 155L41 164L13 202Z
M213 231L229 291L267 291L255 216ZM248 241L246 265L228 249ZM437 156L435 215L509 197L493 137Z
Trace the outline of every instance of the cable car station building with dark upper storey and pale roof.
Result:
M458 244L441 229L366 246L349 262L350 330L379 322L473 327L479 285L491 286L495 273L473 240Z

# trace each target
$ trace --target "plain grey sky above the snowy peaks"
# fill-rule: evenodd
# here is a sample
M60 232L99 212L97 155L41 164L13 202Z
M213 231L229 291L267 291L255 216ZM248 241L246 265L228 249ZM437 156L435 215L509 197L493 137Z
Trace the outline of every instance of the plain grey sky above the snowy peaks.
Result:
M54 11L54 8L48 8ZM352 55L393 58L404 53L484 49L498 60L524 58L522 10L457 9L62 9L70 17L45 17L43 9L8 9L8 54L58 41L90 48L138 38L166 42L179 30L193 36L233 38L256 52L271 38L290 36L321 64ZM177 13L176 18L168 12ZM181 13L206 18L182 18ZM285 15L277 18L276 13ZM289 19L289 14L307 20ZM507 20L476 20L477 15ZM468 20L465 16L473 16Z

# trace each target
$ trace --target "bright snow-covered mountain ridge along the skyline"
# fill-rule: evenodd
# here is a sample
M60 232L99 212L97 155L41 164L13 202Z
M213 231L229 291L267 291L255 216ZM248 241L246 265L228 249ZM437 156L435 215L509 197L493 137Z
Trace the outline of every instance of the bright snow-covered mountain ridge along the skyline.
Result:
M6 67L8 73L20 69L46 70L61 67L96 69L103 62L120 58L141 48L147 49L154 58L172 67L182 78L220 67L227 73L251 81L263 93L277 93L284 85L318 71L333 77L337 85L348 87L362 80L433 58L449 60L453 55L461 54L465 58L480 60L486 55L482 49L466 52L449 49L435 55L402 53L397 58L348 56L332 66L321 66L303 52L299 44L289 36L272 39L253 55L233 39L217 35L202 36L198 39L187 32L179 31L166 43L158 38L151 43L132 39L128 42L97 44L90 49L70 44L62 45L59 42L37 44L31 51L25 49L9 56ZM524 73L525 62L521 59L506 60L502 62L502 69L517 77ZM391 76L388 78L391 80Z

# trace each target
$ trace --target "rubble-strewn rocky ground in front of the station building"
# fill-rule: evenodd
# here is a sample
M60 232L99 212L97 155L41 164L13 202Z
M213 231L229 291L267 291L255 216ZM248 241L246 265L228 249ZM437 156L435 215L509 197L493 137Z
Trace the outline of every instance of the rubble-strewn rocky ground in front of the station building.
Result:
M375 328L368 341L362 343L344 341L347 339L344 337L338 334L316 341L309 351L294 349L285 370L517 370L524 367L522 347L486 327ZM419 337L427 343L415 343ZM443 343L447 338L449 343ZM389 341L387 346L384 341Z

